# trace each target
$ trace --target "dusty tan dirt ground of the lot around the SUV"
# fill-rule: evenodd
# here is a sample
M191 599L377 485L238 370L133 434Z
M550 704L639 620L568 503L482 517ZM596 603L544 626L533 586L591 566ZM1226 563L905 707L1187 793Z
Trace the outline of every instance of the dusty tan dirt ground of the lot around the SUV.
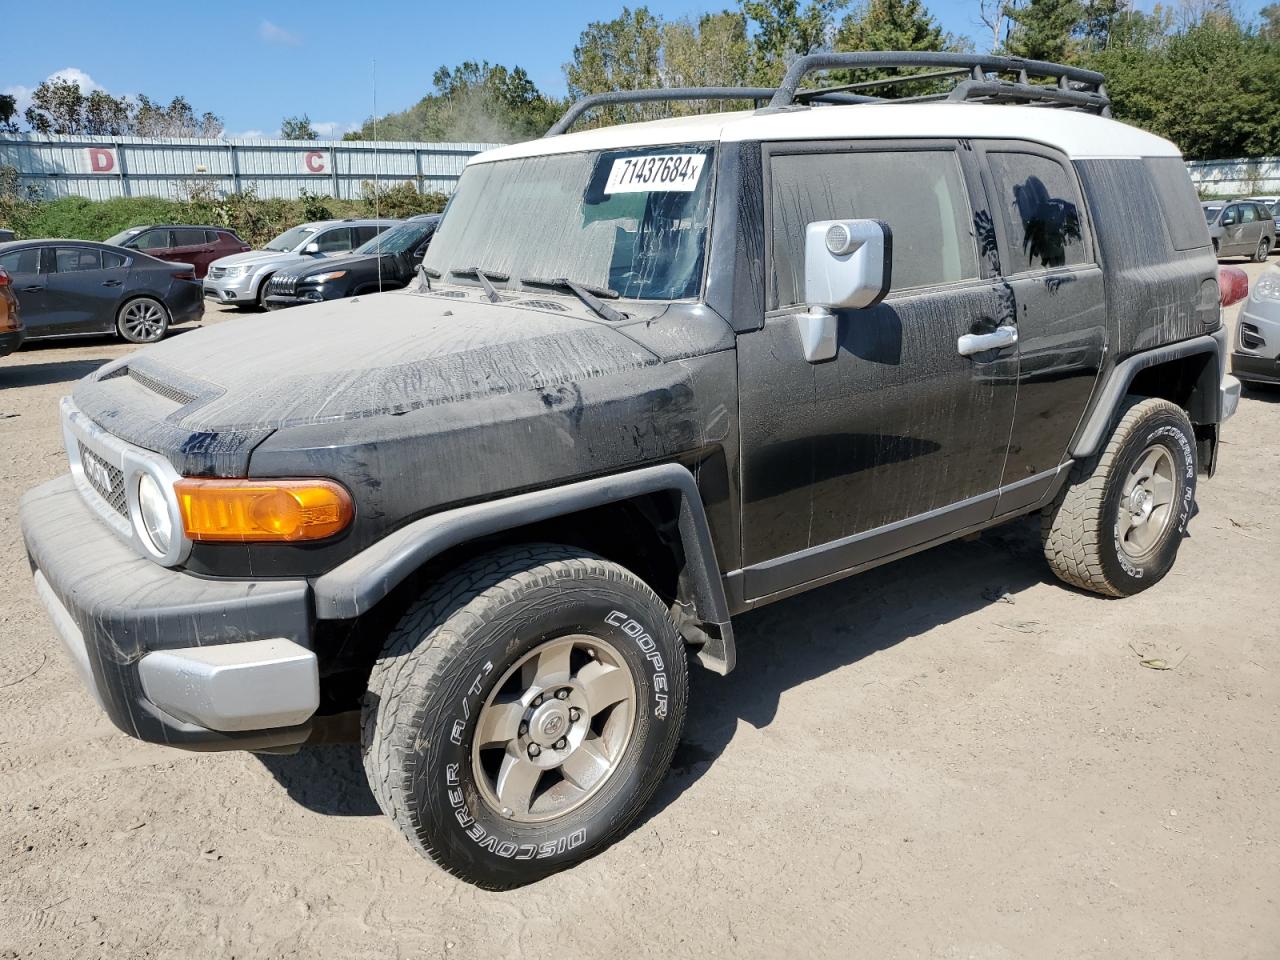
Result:
M1021 522L742 617L644 822L486 893L410 850L356 748L174 751L81 689L17 495L125 351L0 361L0 957L1280 956L1280 394L1245 396L1155 589L1069 590Z

